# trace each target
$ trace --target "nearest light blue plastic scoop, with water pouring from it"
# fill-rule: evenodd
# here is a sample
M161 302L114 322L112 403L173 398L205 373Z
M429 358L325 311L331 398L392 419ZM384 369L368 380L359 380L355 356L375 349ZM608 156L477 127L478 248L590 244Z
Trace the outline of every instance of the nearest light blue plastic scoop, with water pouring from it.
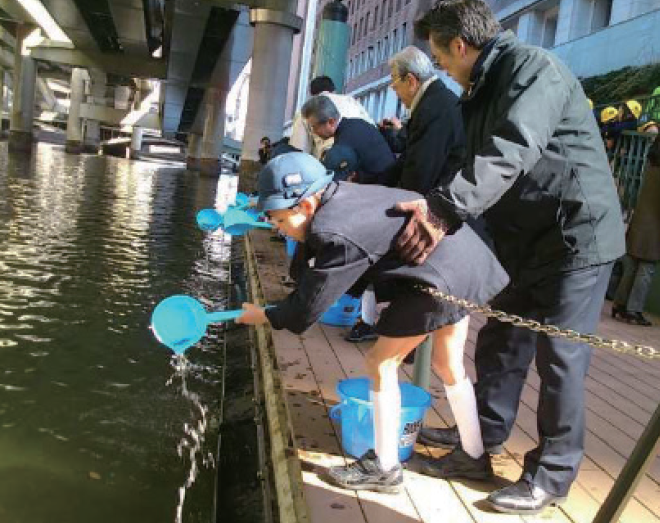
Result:
M195 298L177 294L156 306L151 314L151 330L158 341L182 354L204 337L209 323L235 320L243 312L242 309L206 312Z

